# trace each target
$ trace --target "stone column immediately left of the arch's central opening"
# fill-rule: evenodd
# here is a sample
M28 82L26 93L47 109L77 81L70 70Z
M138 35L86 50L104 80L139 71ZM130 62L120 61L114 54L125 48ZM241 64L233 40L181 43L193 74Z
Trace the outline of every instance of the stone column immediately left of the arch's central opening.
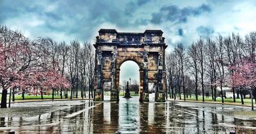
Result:
M116 56L117 56L117 52L112 52L113 54L113 60L111 62L111 83L112 83L112 87L111 87L111 94L110 94L110 101L116 101L118 100L118 86L116 86ZM119 78L118 78L119 79ZM119 80L118 80L119 81Z

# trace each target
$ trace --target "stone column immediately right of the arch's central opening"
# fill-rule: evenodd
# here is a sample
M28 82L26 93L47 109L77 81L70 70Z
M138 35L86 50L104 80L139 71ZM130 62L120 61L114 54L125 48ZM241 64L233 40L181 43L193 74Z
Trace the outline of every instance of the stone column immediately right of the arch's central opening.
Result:
M148 53L143 54L144 66L143 66L143 101L149 101L148 93Z

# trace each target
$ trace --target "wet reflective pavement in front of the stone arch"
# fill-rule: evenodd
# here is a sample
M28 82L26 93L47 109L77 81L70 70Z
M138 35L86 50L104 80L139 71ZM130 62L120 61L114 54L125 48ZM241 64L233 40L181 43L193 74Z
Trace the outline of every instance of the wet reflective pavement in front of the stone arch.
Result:
M0 133L256 133L255 119L236 115L249 107L138 100L15 103L1 109Z

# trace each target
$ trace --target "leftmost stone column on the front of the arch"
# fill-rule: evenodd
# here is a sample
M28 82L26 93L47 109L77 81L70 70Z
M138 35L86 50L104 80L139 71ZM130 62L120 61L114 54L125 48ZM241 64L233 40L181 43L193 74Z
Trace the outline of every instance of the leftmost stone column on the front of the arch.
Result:
M97 89L95 91L95 101L103 101L102 91L102 52L97 52Z

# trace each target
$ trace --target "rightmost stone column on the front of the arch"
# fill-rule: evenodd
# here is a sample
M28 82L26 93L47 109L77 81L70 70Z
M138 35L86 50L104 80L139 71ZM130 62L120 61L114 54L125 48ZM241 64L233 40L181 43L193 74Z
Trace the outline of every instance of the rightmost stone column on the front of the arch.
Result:
M158 73L157 73L157 91L156 91L156 101L164 102L165 101L165 93L163 90L163 52L159 52L158 56Z

